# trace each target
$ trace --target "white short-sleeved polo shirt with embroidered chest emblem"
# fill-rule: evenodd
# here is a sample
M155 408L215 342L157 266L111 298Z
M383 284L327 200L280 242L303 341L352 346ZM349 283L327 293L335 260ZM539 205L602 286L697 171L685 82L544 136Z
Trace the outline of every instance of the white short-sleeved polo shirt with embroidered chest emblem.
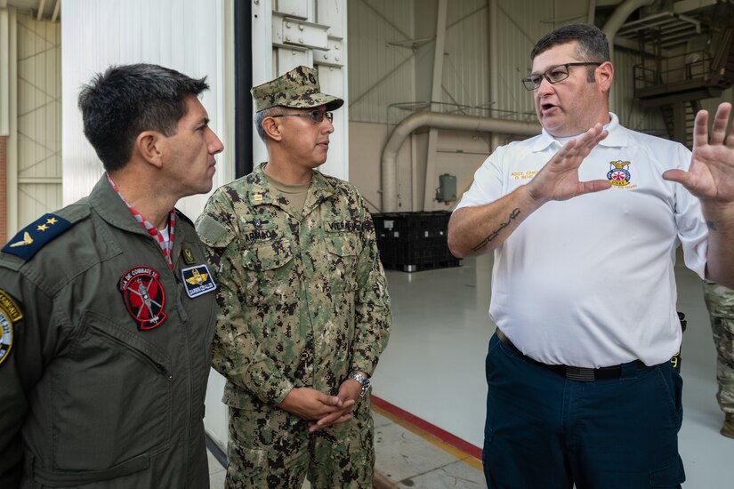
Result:
M619 125L585 158L581 180L612 188L544 204L495 250L489 316L544 364L601 367L678 351L675 249L704 276L706 223L698 198L661 177L690 151ZM488 157L456 207L488 204L528 183L561 143L543 131Z

